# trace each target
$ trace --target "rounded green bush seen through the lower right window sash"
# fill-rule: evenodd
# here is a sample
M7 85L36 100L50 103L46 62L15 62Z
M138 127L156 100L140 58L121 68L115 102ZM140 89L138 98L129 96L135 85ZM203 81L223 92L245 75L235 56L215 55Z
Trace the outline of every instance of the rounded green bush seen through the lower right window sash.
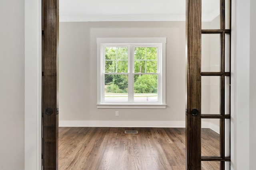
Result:
M152 93L157 88L157 75L143 74L134 83L135 93Z

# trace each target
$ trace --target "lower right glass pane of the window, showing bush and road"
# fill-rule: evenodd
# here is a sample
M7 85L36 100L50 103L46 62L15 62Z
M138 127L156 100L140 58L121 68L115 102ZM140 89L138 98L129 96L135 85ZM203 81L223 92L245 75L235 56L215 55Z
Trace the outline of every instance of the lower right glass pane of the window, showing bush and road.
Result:
M158 75L134 75L134 102L158 101Z

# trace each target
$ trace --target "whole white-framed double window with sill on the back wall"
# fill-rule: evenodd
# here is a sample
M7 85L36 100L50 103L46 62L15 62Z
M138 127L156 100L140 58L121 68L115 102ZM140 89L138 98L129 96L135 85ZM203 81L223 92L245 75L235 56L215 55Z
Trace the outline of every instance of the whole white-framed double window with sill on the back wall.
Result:
M166 38L97 38L98 108L166 108Z

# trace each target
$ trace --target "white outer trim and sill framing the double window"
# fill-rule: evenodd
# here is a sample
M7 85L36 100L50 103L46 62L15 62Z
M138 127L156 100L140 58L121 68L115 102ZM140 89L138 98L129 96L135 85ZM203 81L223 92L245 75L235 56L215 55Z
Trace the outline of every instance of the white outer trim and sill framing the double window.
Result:
M147 103L119 103L119 102L102 102L102 52L101 47L102 44L111 45L111 44L161 44L162 49L159 50L160 56L159 65L161 65L160 78L158 81L162 81L160 83L160 92L162 95L159 102L147 102ZM129 62L129 61L128 61ZM97 108L158 108L163 109L166 108L166 37L151 37L151 38L97 38ZM159 84L159 82L158 82Z

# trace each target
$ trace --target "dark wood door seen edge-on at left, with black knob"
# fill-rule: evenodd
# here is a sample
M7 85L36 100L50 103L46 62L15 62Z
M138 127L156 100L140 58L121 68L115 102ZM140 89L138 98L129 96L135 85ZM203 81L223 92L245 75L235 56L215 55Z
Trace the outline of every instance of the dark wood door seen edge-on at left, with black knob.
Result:
M58 0L42 0L43 170L58 170Z

